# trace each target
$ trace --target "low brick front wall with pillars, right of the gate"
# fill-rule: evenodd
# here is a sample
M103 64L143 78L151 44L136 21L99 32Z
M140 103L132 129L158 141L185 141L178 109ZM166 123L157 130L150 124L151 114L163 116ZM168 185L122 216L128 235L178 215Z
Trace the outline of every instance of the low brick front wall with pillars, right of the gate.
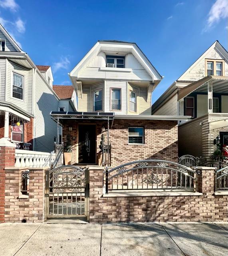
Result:
M102 222L228 221L228 196L214 195L214 170L202 170L200 196L103 197L102 170L90 171L89 220Z

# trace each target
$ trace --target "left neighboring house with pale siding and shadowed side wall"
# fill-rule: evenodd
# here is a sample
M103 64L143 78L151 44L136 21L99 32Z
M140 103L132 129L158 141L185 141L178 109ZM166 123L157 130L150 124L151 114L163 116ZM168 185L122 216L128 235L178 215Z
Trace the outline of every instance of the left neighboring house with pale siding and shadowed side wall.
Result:
M0 138L18 148L54 149L57 124L50 112L59 98L52 82L50 66L36 66L0 25Z

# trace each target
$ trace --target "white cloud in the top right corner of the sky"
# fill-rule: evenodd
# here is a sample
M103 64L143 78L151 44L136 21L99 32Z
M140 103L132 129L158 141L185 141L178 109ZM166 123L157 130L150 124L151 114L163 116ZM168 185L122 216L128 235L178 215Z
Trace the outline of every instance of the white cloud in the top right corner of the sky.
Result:
M211 28L221 19L228 17L228 0L216 0L212 5L207 19L207 28Z

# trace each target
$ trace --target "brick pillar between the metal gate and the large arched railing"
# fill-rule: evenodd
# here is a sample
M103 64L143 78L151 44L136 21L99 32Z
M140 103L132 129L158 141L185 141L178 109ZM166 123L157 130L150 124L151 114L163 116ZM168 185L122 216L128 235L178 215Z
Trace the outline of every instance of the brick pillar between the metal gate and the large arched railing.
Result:
M103 168L100 166L89 170L89 222L99 222L103 218Z

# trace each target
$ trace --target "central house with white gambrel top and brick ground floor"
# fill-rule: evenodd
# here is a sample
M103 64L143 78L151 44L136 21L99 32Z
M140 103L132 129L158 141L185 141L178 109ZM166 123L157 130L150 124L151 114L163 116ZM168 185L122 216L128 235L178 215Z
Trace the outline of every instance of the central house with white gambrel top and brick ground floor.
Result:
M110 164L111 158L112 166L150 158L177 160L177 120L186 117L151 116L151 93L162 77L137 44L98 41L69 77L78 112L51 116L63 125L73 164L101 164L101 149L103 163Z

